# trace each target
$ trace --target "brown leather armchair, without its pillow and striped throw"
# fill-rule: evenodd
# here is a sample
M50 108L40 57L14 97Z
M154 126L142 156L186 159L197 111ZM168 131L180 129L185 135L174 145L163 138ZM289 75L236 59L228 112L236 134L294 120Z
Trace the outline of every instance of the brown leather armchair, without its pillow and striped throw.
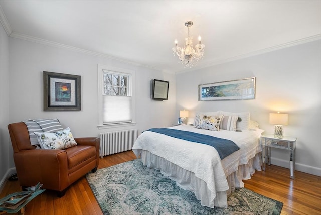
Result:
M100 138L75 138L78 145L65 150L36 150L30 143L25 123L9 124L8 129L22 187L40 182L43 189L56 190L58 196L62 197L69 185L89 171L97 170Z

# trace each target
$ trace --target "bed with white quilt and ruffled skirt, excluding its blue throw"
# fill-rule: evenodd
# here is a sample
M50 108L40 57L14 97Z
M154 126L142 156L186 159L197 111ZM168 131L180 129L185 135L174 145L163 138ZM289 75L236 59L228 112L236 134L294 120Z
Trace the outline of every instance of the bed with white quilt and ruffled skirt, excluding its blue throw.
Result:
M240 149L222 160L218 150L212 146L148 130L137 138L132 150L137 157L141 157L143 165L160 169L178 186L194 192L203 206L227 207L227 195L236 188L244 187L242 180L250 179L255 169L261 170L259 138L263 130L258 126L249 129L249 113L235 114L222 111L197 114L193 125L168 128L233 141ZM221 119L215 122L218 126L222 126L224 116L242 116L242 121L236 122L229 130L197 128L204 116L218 116Z

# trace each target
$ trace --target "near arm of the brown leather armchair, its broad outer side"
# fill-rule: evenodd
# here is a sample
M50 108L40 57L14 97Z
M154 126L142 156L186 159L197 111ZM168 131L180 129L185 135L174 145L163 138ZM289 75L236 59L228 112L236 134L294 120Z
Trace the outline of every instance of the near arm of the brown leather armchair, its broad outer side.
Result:
M69 185L67 152L64 150L22 150L14 153L14 160L21 186L40 182L45 189L62 191Z

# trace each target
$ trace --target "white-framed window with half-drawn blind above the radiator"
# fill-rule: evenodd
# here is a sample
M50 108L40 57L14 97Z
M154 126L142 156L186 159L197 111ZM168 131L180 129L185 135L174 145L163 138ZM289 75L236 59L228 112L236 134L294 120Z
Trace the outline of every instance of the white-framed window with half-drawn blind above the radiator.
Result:
M134 123L133 80L133 71L98 66L98 127Z

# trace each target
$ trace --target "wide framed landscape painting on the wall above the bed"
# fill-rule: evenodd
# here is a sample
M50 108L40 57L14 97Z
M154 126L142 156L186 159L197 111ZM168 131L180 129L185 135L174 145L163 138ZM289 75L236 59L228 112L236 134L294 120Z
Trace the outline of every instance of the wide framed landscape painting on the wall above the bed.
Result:
M255 99L255 77L199 85L199 101Z

